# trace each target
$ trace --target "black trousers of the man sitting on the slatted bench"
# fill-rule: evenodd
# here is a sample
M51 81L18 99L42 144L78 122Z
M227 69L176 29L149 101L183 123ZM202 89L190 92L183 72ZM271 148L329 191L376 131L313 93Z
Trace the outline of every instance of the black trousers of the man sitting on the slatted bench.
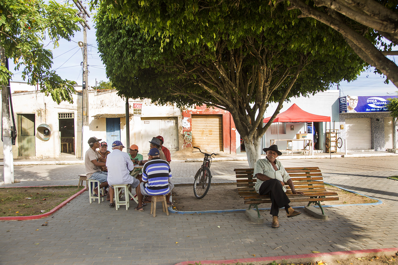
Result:
M289 208L290 200L285 191L283 191L282 184L279 180L273 178L264 181L259 189L260 195L269 195L271 197L271 215L278 215L279 208Z

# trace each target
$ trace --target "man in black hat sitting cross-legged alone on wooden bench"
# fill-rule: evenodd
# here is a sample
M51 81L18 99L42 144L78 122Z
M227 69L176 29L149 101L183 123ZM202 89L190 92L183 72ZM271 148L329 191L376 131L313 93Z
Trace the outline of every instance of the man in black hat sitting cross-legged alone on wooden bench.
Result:
M272 228L279 227L278 214L279 208L285 207L287 217L299 215L300 212L290 207L290 200L286 195L285 183L289 184L293 194L303 194L295 190L295 186L289 174L276 158L282 155L277 145L271 145L263 149L267 155L266 159L259 159L254 166L253 178L257 178L254 188L260 195L271 197Z

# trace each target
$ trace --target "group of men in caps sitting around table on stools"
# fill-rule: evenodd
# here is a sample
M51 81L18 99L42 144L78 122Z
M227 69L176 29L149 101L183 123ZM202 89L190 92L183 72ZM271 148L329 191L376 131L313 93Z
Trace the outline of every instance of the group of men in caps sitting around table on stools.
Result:
M171 155L170 151L163 146L162 136L153 137L149 141L150 151L147 160L138 153L138 146L135 144L129 147L128 154L123 152L125 146L121 141L114 141L112 152L110 152L107 150L107 143L100 143L101 140L96 137L88 139L90 148L86 151L84 164L88 179L98 180L100 188L109 186L107 193L109 207L115 207L113 202L115 191L112 185L119 184L129 184L129 189L135 188L138 197L138 206L134 208L135 211L143 212L146 203L156 195L166 195L167 205L174 205L170 201L171 190L174 188L170 181L172 178ZM98 148L100 148L99 151L97 151ZM137 165L139 165L138 168ZM101 194L94 189L94 196L101 196Z

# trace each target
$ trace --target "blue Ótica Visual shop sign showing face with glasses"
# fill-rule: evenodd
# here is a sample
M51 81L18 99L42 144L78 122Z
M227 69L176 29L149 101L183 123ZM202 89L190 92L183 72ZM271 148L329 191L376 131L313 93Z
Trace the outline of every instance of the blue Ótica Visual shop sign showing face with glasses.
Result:
M388 112L388 99L398 96L339 97L339 113Z

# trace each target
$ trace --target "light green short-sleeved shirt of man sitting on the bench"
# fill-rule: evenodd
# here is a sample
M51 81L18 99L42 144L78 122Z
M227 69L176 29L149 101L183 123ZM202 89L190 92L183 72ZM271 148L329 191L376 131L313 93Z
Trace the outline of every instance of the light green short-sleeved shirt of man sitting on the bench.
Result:
M276 178L279 181L287 182L290 179L289 173L287 173L279 160L275 160L275 163L278 168L276 171L268 159L259 159L254 165L253 178L256 178L257 173L261 173L269 178ZM263 181L257 180L256 185L254 186L257 193L259 193L261 184L263 184ZM285 186L283 186L283 191L286 192Z

